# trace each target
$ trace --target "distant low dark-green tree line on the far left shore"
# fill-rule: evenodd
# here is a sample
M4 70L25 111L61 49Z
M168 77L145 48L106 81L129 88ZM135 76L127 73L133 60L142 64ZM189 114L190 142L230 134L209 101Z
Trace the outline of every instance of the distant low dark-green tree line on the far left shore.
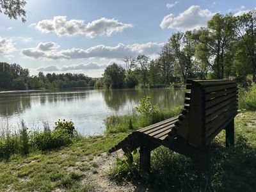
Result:
M35 90L94 86L95 80L84 74L55 74L30 76L28 68L0 62L0 90Z

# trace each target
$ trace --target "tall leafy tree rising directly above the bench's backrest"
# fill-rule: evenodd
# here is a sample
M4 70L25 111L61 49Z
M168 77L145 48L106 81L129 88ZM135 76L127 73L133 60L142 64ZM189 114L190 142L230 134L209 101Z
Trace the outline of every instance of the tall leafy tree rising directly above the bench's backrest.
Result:
M196 31L199 44L196 56L211 67L213 78L223 79L225 72L225 56L230 52L234 39L234 17L231 14L216 13L207 22L207 28Z

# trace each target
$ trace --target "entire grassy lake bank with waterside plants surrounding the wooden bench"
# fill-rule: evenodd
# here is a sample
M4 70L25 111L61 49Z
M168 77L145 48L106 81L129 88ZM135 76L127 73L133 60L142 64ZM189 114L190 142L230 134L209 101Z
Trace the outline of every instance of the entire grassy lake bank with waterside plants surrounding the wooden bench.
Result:
M235 118L235 147L225 148L224 131L212 143L212 187L216 191L256 188L256 112L248 111L256 106L254 89L243 90L243 95L247 94L243 100L239 92L242 110ZM2 156L3 151L11 153L0 160L0 191L140 191L141 185L145 186L141 191L195 190L195 164L164 147L152 152L150 175L141 174L138 154L134 154L136 161L132 165L121 158L111 167L106 166L113 158L106 152L132 130L180 113L180 108L159 109L147 97L136 109L132 115L106 118L106 134L102 136L79 136L71 122L66 125L63 121L57 122L53 131L45 124L43 131L28 132L23 125L12 136L2 134L0 152ZM106 179L102 181L102 177ZM104 183L109 187L103 188ZM120 189L127 183L132 183L133 188Z

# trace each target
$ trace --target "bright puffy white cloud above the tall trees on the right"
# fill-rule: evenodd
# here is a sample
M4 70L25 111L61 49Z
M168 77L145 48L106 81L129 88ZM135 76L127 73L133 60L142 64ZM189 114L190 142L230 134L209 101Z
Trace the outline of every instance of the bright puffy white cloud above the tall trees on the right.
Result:
M192 5L187 10L179 13L177 17L172 13L166 15L162 20L160 27L162 29L178 29L181 31L192 30L204 27L207 21L212 18L215 13L210 10L202 10L198 5Z

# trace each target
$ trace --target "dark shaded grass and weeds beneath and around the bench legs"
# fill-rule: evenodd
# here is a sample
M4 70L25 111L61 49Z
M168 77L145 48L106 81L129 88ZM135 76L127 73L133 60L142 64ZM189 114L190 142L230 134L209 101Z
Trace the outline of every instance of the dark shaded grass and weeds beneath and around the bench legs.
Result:
M234 147L226 148L220 141L212 143L211 172L214 191L254 191L256 189L256 151L246 138L236 136ZM135 191L196 191L197 177L193 161L159 147L152 152L151 171L143 175L138 159L132 166L119 164L109 177L116 182L129 180Z

